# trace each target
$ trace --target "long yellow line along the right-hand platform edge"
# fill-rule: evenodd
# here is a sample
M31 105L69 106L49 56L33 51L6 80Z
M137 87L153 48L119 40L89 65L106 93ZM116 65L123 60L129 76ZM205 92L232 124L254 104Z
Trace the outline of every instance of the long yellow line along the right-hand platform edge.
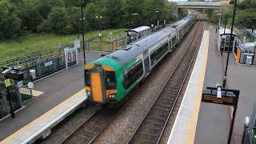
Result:
M194 136L198 124L198 114L199 114L199 109L200 109L200 104L201 104L201 98L202 98L202 88L203 88L203 82L206 74L206 62L208 58L208 49L209 49L209 31L206 31L206 51L205 51L205 56L203 58L203 63L202 63L202 71L200 73L200 78L199 78L199 85L198 85L198 91L197 91L197 96L194 99L194 105L193 105L193 110L190 116L190 122L188 129L186 130L186 138L185 142L186 144L192 144L194 143Z

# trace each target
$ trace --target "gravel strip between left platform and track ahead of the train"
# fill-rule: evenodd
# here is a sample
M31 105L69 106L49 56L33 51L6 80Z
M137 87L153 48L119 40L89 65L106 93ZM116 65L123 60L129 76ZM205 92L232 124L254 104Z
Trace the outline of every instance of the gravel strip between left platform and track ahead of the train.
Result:
M52 134L41 143L60 143L94 113L95 107L80 108L52 129Z

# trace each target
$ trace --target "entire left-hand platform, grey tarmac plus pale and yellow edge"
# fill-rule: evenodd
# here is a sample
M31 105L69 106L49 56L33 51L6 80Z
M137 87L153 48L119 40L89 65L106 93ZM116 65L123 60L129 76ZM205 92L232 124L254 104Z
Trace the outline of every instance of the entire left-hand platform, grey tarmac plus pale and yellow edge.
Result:
M106 53L87 51L86 62L91 62L102 54ZM70 113L85 101L83 55L79 54L78 58L80 65L34 82L35 90L42 93L26 102L26 107L18 111L15 118L8 117L0 121L0 128L5 131L0 133L0 143L13 143L11 139L18 140L14 143L26 142L23 140L34 138L31 133L44 132L48 126L46 124L61 120L64 118L62 114Z

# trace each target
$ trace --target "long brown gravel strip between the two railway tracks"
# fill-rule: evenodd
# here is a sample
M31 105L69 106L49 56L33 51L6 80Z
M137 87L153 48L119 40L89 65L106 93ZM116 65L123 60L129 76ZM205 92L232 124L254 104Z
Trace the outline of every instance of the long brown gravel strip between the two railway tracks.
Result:
M192 33L189 34L189 37L191 36L193 36ZM130 97L125 106L122 106L122 110L118 112L114 121L99 135L98 139L94 141L95 143L128 142L186 49L185 39L163 60L154 73L146 78L146 82Z

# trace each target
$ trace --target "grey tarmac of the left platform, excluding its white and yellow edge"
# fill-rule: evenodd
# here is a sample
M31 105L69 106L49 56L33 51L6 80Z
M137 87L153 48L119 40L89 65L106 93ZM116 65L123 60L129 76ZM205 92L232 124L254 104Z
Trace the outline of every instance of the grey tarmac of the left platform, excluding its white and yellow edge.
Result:
M86 51L86 62L93 61L101 54L106 53ZM72 66L68 70L59 71L34 82L35 90L44 93L26 102L26 108L18 111L15 118L9 117L0 122L1 131L4 130L4 133L0 133L0 141L83 89L83 54L79 54L78 58L78 66Z

